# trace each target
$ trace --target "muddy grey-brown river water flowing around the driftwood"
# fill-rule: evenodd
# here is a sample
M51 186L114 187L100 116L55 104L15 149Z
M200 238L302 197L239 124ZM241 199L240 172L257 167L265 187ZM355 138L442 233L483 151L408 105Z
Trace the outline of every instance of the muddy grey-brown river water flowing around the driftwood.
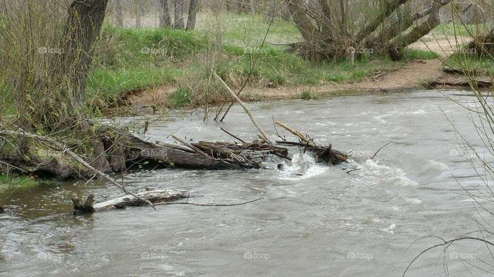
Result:
M444 93L473 100L466 91ZM468 113L442 94L415 91L249 107L273 138L272 115L319 143L353 149L352 161L312 166L303 176L292 175L290 165L285 171L163 169L124 176L128 189L188 191L195 203L264 197L236 207L171 205L73 216L72 196L94 193L104 201L121 194L104 181L3 191L0 201L8 211L0 214L0 276L398 276L415 255L438 242L410 246L414 240L424 235L451 239L477 229L468 218L477 215L472 201L454 177L469 190L482 184L460 155L445 114L482 147ZM200 112L179 113L146 114L152 122L148 135L166 140L176 132L194 141L229 140L219 130L225 127L246 140L255 138L238 108L225 123L203 122ZM119 119L143 123L138 116ZM391 140L396 142L369 160ZM361 170L347 174L351 168ZM470 258L489 260L482 244L453 246L444 260L452 276L468 273L458 256L477 264ZM438 249L417 260L408 275L443 276L443 270Z

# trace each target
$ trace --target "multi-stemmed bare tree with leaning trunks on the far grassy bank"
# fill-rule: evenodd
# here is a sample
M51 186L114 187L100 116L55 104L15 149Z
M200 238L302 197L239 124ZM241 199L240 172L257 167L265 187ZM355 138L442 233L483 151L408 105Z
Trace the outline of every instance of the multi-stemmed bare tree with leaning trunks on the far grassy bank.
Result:
M429 0L427 9L414 14L407 9L418 4L414 0L285 2L304 38L293 48L304 56L344 57L349 49L365 48L398 60L403 48L441 23L439 10L451 0Z

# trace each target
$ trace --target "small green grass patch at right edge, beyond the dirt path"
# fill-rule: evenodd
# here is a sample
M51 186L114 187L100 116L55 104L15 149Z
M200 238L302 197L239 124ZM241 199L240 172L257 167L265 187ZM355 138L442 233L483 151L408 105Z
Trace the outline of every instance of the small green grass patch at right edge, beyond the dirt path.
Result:
M446 66L478 74L494 75L494 60L490 57L454 54L445 62Z

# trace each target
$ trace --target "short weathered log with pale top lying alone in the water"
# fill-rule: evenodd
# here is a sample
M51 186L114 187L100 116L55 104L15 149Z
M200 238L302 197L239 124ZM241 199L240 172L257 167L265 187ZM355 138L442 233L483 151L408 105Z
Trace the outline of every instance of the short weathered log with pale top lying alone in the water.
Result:
M72 198L72 206L74 208L73 212L93 213L97 211L104 211L110 209L123 209L129 206L147 205L147 203L144 200L156 204L167 201L179 200L187 197L184 193L173 190L152 190L152 191L137 193L136 195L138 195L139 198L126 195L96 204L93 204L94 203L93 194L87 196L87 199L84 202L84 204L82 204L79 199Z

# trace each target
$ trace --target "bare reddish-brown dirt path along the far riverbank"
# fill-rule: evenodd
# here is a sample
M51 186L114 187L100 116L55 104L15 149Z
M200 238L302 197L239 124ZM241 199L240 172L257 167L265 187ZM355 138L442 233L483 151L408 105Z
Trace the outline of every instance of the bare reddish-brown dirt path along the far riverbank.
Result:
M356 83L325 84L313 87L279 87L279 88L251 88L246 89L244 95L258 95L262 100L285 100L297 98L297 95L304 90L311 89L322 96L355 92L379 92L395 91L416 88L426 83L442 78L442 60L454 53L457 45L462 45L465 38L454 39L446 37L425 36L422 41L413 44L411 47L422 50L431 50L439 55L435 60L413 61L401 68L390 72L378 72L366 80ZM134 107L142 108L149 106L161 106L166 104L166 98L175 88L163 86L150 89L133 96L131 103ZM245 100L249 100L248 98Z

